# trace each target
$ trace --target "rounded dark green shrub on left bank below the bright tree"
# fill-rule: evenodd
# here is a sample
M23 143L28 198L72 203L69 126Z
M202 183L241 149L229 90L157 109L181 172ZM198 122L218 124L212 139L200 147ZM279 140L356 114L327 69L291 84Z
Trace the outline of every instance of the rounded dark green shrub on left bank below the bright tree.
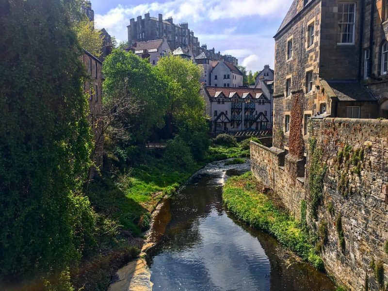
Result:
M175 138L167 142L166 150L163 154L163 159L167 164L176 166L180 169L190 169L195 164L190 147L179 138Z

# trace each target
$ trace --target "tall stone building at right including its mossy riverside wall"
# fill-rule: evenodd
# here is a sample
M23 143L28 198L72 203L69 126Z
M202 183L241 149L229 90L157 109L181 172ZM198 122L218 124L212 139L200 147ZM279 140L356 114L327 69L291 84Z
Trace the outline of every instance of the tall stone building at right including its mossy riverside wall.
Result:
M326 229L325 269L351 290L388 281L387 8L294 0L275 35L273 146L251 143L253 174Z

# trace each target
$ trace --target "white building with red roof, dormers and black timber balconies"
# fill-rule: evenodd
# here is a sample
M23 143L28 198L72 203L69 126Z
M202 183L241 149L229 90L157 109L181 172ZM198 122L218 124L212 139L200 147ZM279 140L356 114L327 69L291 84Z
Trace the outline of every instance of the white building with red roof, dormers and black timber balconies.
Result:
M272 128L272 100L261 89L203 86L212 132Z

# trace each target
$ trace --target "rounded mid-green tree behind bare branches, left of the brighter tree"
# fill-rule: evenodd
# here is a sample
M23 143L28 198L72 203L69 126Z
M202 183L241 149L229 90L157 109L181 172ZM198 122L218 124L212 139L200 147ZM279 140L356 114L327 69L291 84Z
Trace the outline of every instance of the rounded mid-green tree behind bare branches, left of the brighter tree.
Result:
M151 129L164 125L163 117L169 103L165 93L168 83L152 69L148 60L122 49L114 49L105 59L103 73L106 77L103 85L104 108L123 98L128 98L129 104L133 105L131 110L121 111L122 114L115 117L112 123L115 136L125 136L127 132L132 143L145 144ZM122 108L124 103L113 109Z

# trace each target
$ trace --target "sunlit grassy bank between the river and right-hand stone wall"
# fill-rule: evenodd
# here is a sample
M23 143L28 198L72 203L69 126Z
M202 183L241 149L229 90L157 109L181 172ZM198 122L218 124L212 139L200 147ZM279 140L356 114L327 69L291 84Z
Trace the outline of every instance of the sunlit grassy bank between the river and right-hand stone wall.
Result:
M300 223L278 210L271 198L259 193L259 183L248 172L226 181L223 200L227 208L242 221L264 230L285 247L307 260L317 269L323 269L323 261L316 253L314 238L302 229Z

